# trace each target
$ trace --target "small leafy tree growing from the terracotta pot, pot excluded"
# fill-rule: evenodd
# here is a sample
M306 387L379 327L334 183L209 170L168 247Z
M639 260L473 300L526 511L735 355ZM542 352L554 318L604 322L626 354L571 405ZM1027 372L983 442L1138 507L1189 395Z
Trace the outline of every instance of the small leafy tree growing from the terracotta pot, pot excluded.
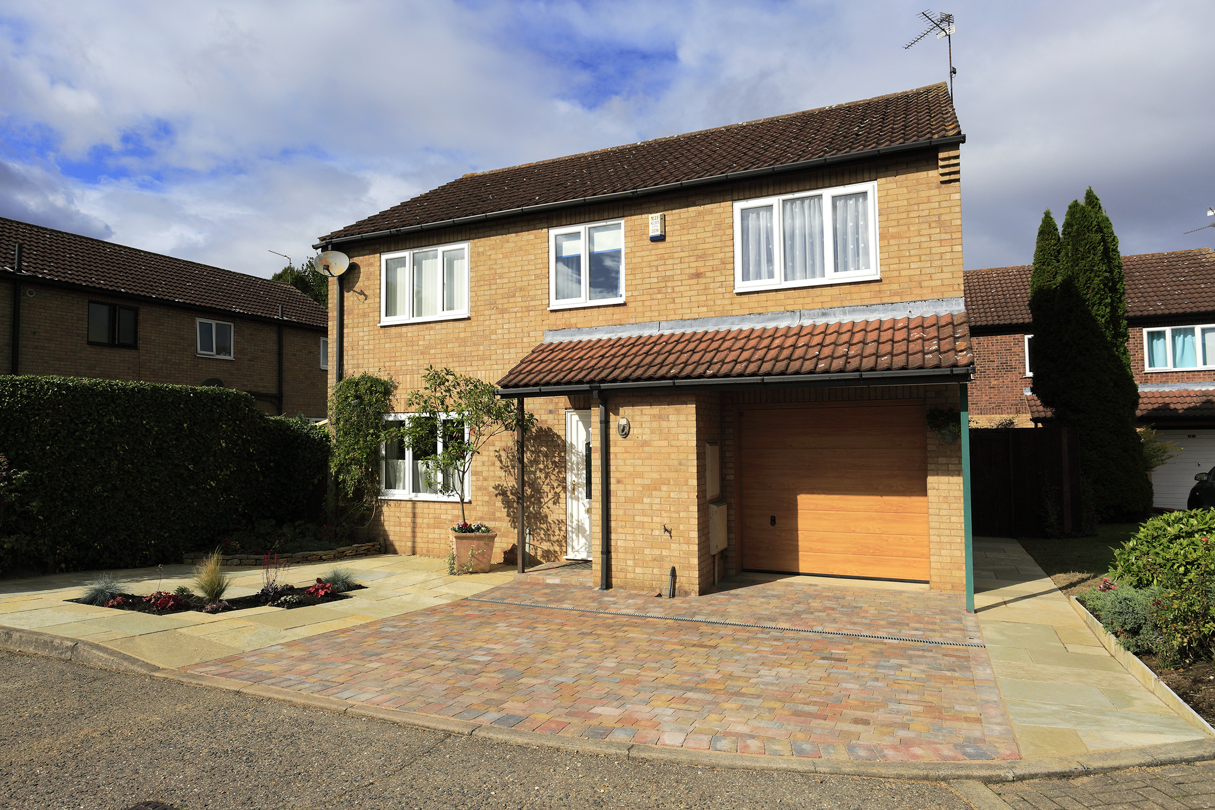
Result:
M459 519L464 515L473 459L495 436L514 432L518 414L509 400L499 400L493 386L475 376L457 374L450 368L426 367L424 387L406 397L413 414L401 426L401 443L422 463L428 486L440 494L459 499ZM524 414L524 430L536 425L536 417Z

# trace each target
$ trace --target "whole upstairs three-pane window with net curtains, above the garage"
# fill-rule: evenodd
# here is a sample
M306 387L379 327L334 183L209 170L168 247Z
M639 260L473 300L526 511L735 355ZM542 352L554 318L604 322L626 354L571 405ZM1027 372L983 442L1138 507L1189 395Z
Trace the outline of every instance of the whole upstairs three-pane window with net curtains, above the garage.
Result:
M876 278L876 182L734 204L735 293Z

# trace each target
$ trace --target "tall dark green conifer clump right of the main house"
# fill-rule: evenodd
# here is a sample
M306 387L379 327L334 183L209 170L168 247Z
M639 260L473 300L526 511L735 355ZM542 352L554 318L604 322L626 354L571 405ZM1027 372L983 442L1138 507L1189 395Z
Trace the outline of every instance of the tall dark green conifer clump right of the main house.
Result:
M1135 432L1138 390L1123 361L1125 344L1118 351L1102 321L1125 312L1125 294L1119 310L1109 300L1111 287L1101 282L1100 257L1107 244L1100 219L1086 205L1068 206L1062 236L1051 213L1042 215L1029 299L1034 393L1056 419L1075 429L1081 475L1098 517L1137 520L1152 506L1152 482ZM1092 298L1090 290L1096 291Z

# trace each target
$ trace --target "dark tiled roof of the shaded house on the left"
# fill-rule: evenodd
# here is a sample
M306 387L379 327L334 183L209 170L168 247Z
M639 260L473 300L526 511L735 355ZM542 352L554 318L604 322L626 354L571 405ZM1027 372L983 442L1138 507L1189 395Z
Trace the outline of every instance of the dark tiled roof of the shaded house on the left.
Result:
M33 278L160 299L238 315L328 325L323 306L294 287L137 248L0 217L0 265L11 267L22 243L22 270ZM11 278L10 270L0 277Z

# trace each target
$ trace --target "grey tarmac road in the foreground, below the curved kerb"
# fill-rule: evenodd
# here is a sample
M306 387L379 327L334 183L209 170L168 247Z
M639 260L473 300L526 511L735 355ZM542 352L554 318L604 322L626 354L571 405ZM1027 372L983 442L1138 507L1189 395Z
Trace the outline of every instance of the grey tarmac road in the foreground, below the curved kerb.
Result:
M966 810L946 784L569 754L0 651L0 808Z

